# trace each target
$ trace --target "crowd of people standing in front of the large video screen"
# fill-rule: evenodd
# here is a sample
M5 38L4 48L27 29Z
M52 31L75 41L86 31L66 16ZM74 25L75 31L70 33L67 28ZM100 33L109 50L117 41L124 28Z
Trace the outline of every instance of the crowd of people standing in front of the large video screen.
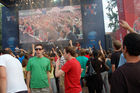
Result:
M123 44L113 41L113 52L101 41L81 48L77 43L46 52L42 44L32 44L32 52L15 48L0 51L0 93L139 93L140 35L127 22Z

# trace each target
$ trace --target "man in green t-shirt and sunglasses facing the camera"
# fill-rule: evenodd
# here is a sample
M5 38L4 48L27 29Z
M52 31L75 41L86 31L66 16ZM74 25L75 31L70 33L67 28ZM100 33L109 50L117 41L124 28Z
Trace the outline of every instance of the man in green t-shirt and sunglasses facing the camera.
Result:
M35 46L36 56L29 59L27 70L28 93L49 93L50 60L43 56L42 44Z

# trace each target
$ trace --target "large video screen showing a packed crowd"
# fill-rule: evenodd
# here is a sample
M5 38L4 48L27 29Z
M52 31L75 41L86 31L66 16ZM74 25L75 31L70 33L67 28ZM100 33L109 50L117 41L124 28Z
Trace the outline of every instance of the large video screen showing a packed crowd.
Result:
M20 43L83 39L81 6L19 11Z

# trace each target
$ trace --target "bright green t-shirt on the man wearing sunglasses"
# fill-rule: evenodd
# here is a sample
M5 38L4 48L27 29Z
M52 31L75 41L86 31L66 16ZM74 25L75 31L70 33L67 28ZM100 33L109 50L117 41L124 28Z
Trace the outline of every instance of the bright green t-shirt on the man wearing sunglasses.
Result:
M31 72L30 88L49 87L47 71L50 71L50 60L48 58L30 58L26 70Z

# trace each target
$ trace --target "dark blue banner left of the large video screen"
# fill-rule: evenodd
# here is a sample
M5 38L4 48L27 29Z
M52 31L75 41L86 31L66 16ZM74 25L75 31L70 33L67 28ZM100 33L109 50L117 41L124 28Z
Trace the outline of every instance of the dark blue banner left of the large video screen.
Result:
M15 9L2 7L2 48L18 46L18 19Z

